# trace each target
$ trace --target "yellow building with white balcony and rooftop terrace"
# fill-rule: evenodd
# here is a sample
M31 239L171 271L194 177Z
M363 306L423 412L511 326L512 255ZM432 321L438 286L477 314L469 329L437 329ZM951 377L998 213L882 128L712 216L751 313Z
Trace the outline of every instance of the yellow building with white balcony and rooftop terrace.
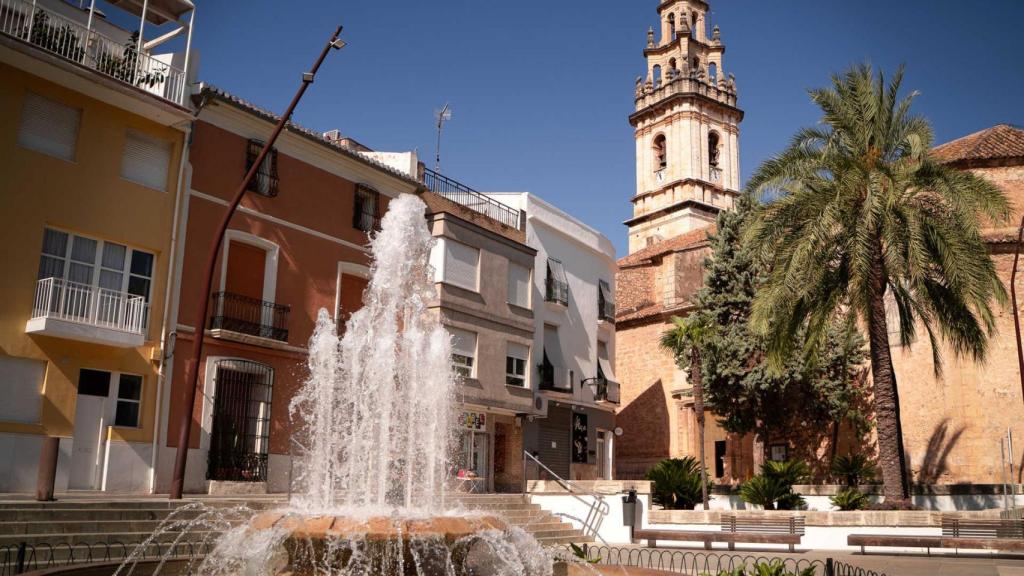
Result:
M0 3L4 492L35 488L44 437L58 491L151 486L194 6L118 6L140 35L59 0Z

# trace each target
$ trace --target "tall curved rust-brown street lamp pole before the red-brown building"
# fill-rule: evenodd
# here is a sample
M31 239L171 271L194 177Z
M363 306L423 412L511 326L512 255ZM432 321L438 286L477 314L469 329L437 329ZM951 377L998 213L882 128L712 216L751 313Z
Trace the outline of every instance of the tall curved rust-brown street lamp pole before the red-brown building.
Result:
M224 241L224 233L227 232L227 225L231 221L231 216L234 214L234 210L239 207L239 203L242 202L242 198L246 195L246 190L249 188L249 182L256 175L256 171L263 164L263 159L266 158L267 153L273 147L274 141L278 140L278 136L281 135L281 131L285 129L285 125L288 124L289 119L292 117L292 113L295 111L295 107L298 106L299 100L302 99L302 94L306 92L306 88L313 83L313 79L316 76L316 71L319 70L322 64L324 64L324 58L327 57L327 53L332 49L340 50L345 46L345 42L338 38L341 35L342 27L338 27L328 40L324 49L321 50L319 56L316 58L316 63L313 64L312 70L309 72L304 72L302 74L302 84L299 86L299 90L295 93L292 98L291 104L288 105L288 110L278 121L278 125L274 126L273 132L270 137L267 138L266 143L263 145L263 150L259 152L256 159L253 161L252 166L249 167L249 171L246 172L245 177L242 178L242 183L239 184L238 191L234 193L234 199L224 210L224 216L220 220L220 228L217 234L214 235L213 241L210 243L210 251L207 256L206 261L206 275L203 277L203 281L197 286L197 300L199 302L199 310L196 313L196 321L193 326L196 327L196 335L193 339L193 349L191 356L185 362L185 403L181 407L181 417L178 419L178 447L177 453L174 455L174 471L171 477L171 494L170 498L172 500L180 500L181 493L184 490L184 479L185 479L185 463L188 459L188 444L191 438L191 420L194 415L194 410L196 407L196 389L199 385L199 363L203 358L203 339L205 336L205 326L206 326L206 315L209 313L210 305L210 286L213 284L213 274L217 265L217 254L220 252L220 246Z

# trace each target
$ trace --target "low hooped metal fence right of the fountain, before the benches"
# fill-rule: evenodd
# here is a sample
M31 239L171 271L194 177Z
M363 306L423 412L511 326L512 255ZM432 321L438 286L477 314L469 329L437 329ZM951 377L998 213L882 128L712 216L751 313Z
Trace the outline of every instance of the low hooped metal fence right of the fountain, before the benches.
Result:
M677 574L717 576L720 573L750 574L758 565L781 565L791 574L799 576L885 576L834 559L810 560L781 558L751 553L718 553L693 550L666 550L652 548L617 547L603 545L583 545L580 550L586 560L600 565L628 566L663 570ZM571 546L559 550L561 558L575 556Z

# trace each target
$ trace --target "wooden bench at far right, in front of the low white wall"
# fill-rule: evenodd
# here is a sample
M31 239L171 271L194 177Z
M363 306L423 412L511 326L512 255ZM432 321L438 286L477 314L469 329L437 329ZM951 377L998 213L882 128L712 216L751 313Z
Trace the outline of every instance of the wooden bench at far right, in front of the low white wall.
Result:
M925 548L959 548L1024 551L1024 521L987 520L942 517L941 536L910 536L885 534L850 534L846 543L860 546Z

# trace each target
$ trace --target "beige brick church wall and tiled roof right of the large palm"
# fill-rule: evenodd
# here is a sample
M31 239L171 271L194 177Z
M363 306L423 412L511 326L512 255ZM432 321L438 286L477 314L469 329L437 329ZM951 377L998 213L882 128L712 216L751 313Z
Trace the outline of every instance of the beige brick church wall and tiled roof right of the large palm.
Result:
M999 125L935 149L940 160L970 170L1002 189L1014 205L1013 216L984 230L995 268L1007 291L1013 271L1017 225L1024 214L1024 130ZM1024 264L1024 262L1022 262ZM1024 278L1017 290L1024 296ZM1018 302L1021 305L1024 302ZM944 375L932 370L931 346L922 338L908 351L895 351L911 480L920 484L1001 484L1021 482L1024 447L1024 399L1017 364L1013 310L996 308L996 334L988 361L957 361L943 345ZM1014 439L1013 477L1004 464L1000 442ZM1006 476L1005 476L1006 472Z

